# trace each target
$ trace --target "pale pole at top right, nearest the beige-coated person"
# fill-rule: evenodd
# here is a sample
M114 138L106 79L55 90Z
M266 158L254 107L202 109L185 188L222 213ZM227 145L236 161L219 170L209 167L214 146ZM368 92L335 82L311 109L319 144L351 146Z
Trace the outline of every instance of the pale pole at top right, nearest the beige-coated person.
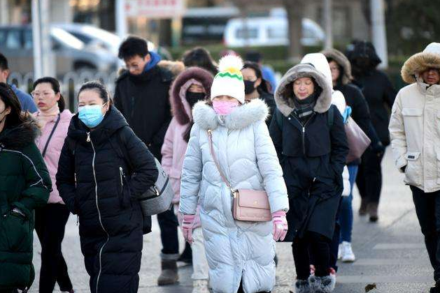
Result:
M379 68L388 68L388 46L385 29L385 9L383 0L370 0L371 38L378 56L382 59Z

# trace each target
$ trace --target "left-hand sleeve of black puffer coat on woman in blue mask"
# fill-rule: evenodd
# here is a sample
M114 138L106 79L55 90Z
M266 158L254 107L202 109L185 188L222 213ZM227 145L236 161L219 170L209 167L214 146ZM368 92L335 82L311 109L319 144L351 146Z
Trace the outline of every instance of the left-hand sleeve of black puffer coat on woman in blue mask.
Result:
M69 147L70 137L66 137L64 145L59 155L58 170L55 178L57 179L57 189L59 196L63 199L67 209L73 214L78 213L76 205L76 181L75 181L75 155Z

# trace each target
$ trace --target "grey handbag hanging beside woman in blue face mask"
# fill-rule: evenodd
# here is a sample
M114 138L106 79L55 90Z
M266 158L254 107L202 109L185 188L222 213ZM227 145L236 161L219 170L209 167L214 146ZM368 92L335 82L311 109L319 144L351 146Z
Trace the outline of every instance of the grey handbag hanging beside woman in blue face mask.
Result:
M169 182L168 174L160 165L159 160L155 158L157 171L157 180L153 186L151 186L145 193L138 197L139 204L143 216L157 215L171 208L174 192Z

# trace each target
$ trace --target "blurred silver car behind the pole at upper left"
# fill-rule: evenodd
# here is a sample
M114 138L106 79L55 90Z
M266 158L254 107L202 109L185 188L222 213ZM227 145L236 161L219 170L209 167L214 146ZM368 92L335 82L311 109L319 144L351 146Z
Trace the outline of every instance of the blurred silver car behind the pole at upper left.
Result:
M57 75L64 75L71 70L110 73L118 69L118 58L114 54L101 47L87 46L64 29L51 27L50 40ZM13 71L22 74L33 71L33 48L31 26L0 27L0 52L8 58Z

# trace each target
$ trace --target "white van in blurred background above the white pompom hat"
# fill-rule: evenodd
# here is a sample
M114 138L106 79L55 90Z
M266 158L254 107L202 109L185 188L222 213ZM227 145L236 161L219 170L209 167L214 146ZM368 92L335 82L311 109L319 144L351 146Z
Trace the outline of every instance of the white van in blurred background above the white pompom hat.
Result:
M325 33L313 20L302 20L301 45L320 45ZM288 45L288 20L285 17L233 18L226 24L227 47Z

